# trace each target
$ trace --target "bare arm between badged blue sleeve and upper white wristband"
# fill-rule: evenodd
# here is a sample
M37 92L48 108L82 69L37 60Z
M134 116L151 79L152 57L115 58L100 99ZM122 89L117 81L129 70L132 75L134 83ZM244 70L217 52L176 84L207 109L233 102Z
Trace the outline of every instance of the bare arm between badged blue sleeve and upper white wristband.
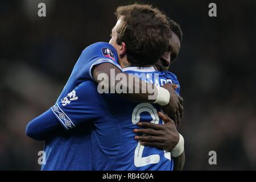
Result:
M103 63L93 68L93 79L100 88L108 93L117 93L134 102L155 102L158 89L151 83L137 76L121 72L110 63Z

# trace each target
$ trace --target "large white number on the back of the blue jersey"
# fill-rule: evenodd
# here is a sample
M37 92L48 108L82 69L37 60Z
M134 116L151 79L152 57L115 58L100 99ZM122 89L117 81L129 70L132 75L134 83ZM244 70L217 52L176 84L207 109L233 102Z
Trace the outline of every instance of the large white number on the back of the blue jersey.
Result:
M134 125L136 125L140 121L141 113L143 112L147 112L151 115L151 123L159 123L158 111L155 109L155 107L149 103L141 103L138 104L133 110L131 121L133 122ZM138 142L134 152L134 165L136 167L142 167L147 166L148 164L159 163L160 156L158 154L142 157L143 150L144 146L141 145L141 142ZM170 152L164 151L164 157L171 160Z

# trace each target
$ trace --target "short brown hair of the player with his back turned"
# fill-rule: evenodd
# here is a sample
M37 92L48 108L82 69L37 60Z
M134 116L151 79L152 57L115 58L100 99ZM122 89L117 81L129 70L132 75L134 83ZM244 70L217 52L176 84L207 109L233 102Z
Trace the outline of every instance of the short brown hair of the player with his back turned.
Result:
M122 17L122 24L117 30L117 44L126 44L130 64L155 64L169 45L171 31L166 15L150 5L137 3L119 6L115 15L117 19Z

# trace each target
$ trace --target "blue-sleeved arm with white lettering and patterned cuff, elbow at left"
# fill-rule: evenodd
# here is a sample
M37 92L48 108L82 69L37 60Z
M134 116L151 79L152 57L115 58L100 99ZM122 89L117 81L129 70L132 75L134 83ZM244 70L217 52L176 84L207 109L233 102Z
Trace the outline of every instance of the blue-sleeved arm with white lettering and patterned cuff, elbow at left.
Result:
M26 134L35 140L46 140L56 130L71 130L86 122L108 120L108 105L97 93L93 81L84 81L51 109L28 123Z

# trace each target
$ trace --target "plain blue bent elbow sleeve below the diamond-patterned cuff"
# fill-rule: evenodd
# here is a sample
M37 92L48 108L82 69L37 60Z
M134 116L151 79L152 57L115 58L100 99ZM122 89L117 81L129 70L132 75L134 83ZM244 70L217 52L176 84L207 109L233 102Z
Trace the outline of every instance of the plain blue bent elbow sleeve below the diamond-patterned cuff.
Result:
M61 125L51 109L28 122L26 135L35 140L46 140L47 137L54 134Z

